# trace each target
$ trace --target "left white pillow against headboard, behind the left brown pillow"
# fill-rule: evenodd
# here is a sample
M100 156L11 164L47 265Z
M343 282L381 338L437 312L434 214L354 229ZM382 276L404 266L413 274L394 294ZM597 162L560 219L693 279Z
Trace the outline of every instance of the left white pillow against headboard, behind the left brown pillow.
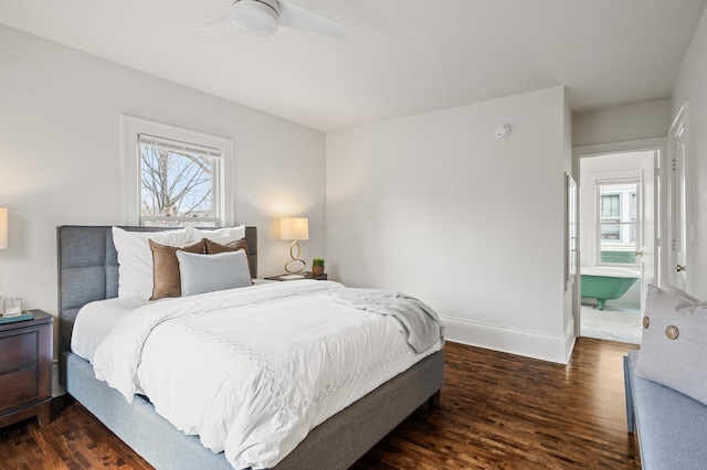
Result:
M128 232L113 227L113 244L118 252L118 297L149 300L152 295L152 252L147 242L184 246L191 242L192 229L165 232Z

